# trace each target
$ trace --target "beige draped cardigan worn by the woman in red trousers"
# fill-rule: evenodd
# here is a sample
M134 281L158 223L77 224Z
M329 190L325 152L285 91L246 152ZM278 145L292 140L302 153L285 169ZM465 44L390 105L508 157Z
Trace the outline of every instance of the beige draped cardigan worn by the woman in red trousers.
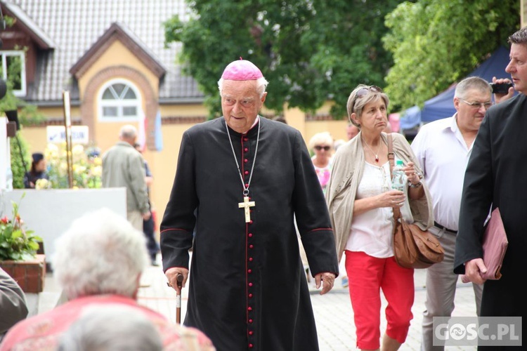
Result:
M330 210L330 219L337 245L337 256L339 262L349 238L351 221L353 220L353 204L357 192L358 183L362 178L364 170L364 152L362 138L359 132L355 138L341 145L333 158L333 168L329 183L326 187L326 202ZM422 173L421 166L410 148L405 137L399 133L392 133L393 152L396 156L408 163L412 161L415 169ZM382 141L387 145L386 133L381 134ZM427 185L423 182L424 197L421 199L410 199L410 210L417 224L422 230L427 230L434 225L434 213Z

